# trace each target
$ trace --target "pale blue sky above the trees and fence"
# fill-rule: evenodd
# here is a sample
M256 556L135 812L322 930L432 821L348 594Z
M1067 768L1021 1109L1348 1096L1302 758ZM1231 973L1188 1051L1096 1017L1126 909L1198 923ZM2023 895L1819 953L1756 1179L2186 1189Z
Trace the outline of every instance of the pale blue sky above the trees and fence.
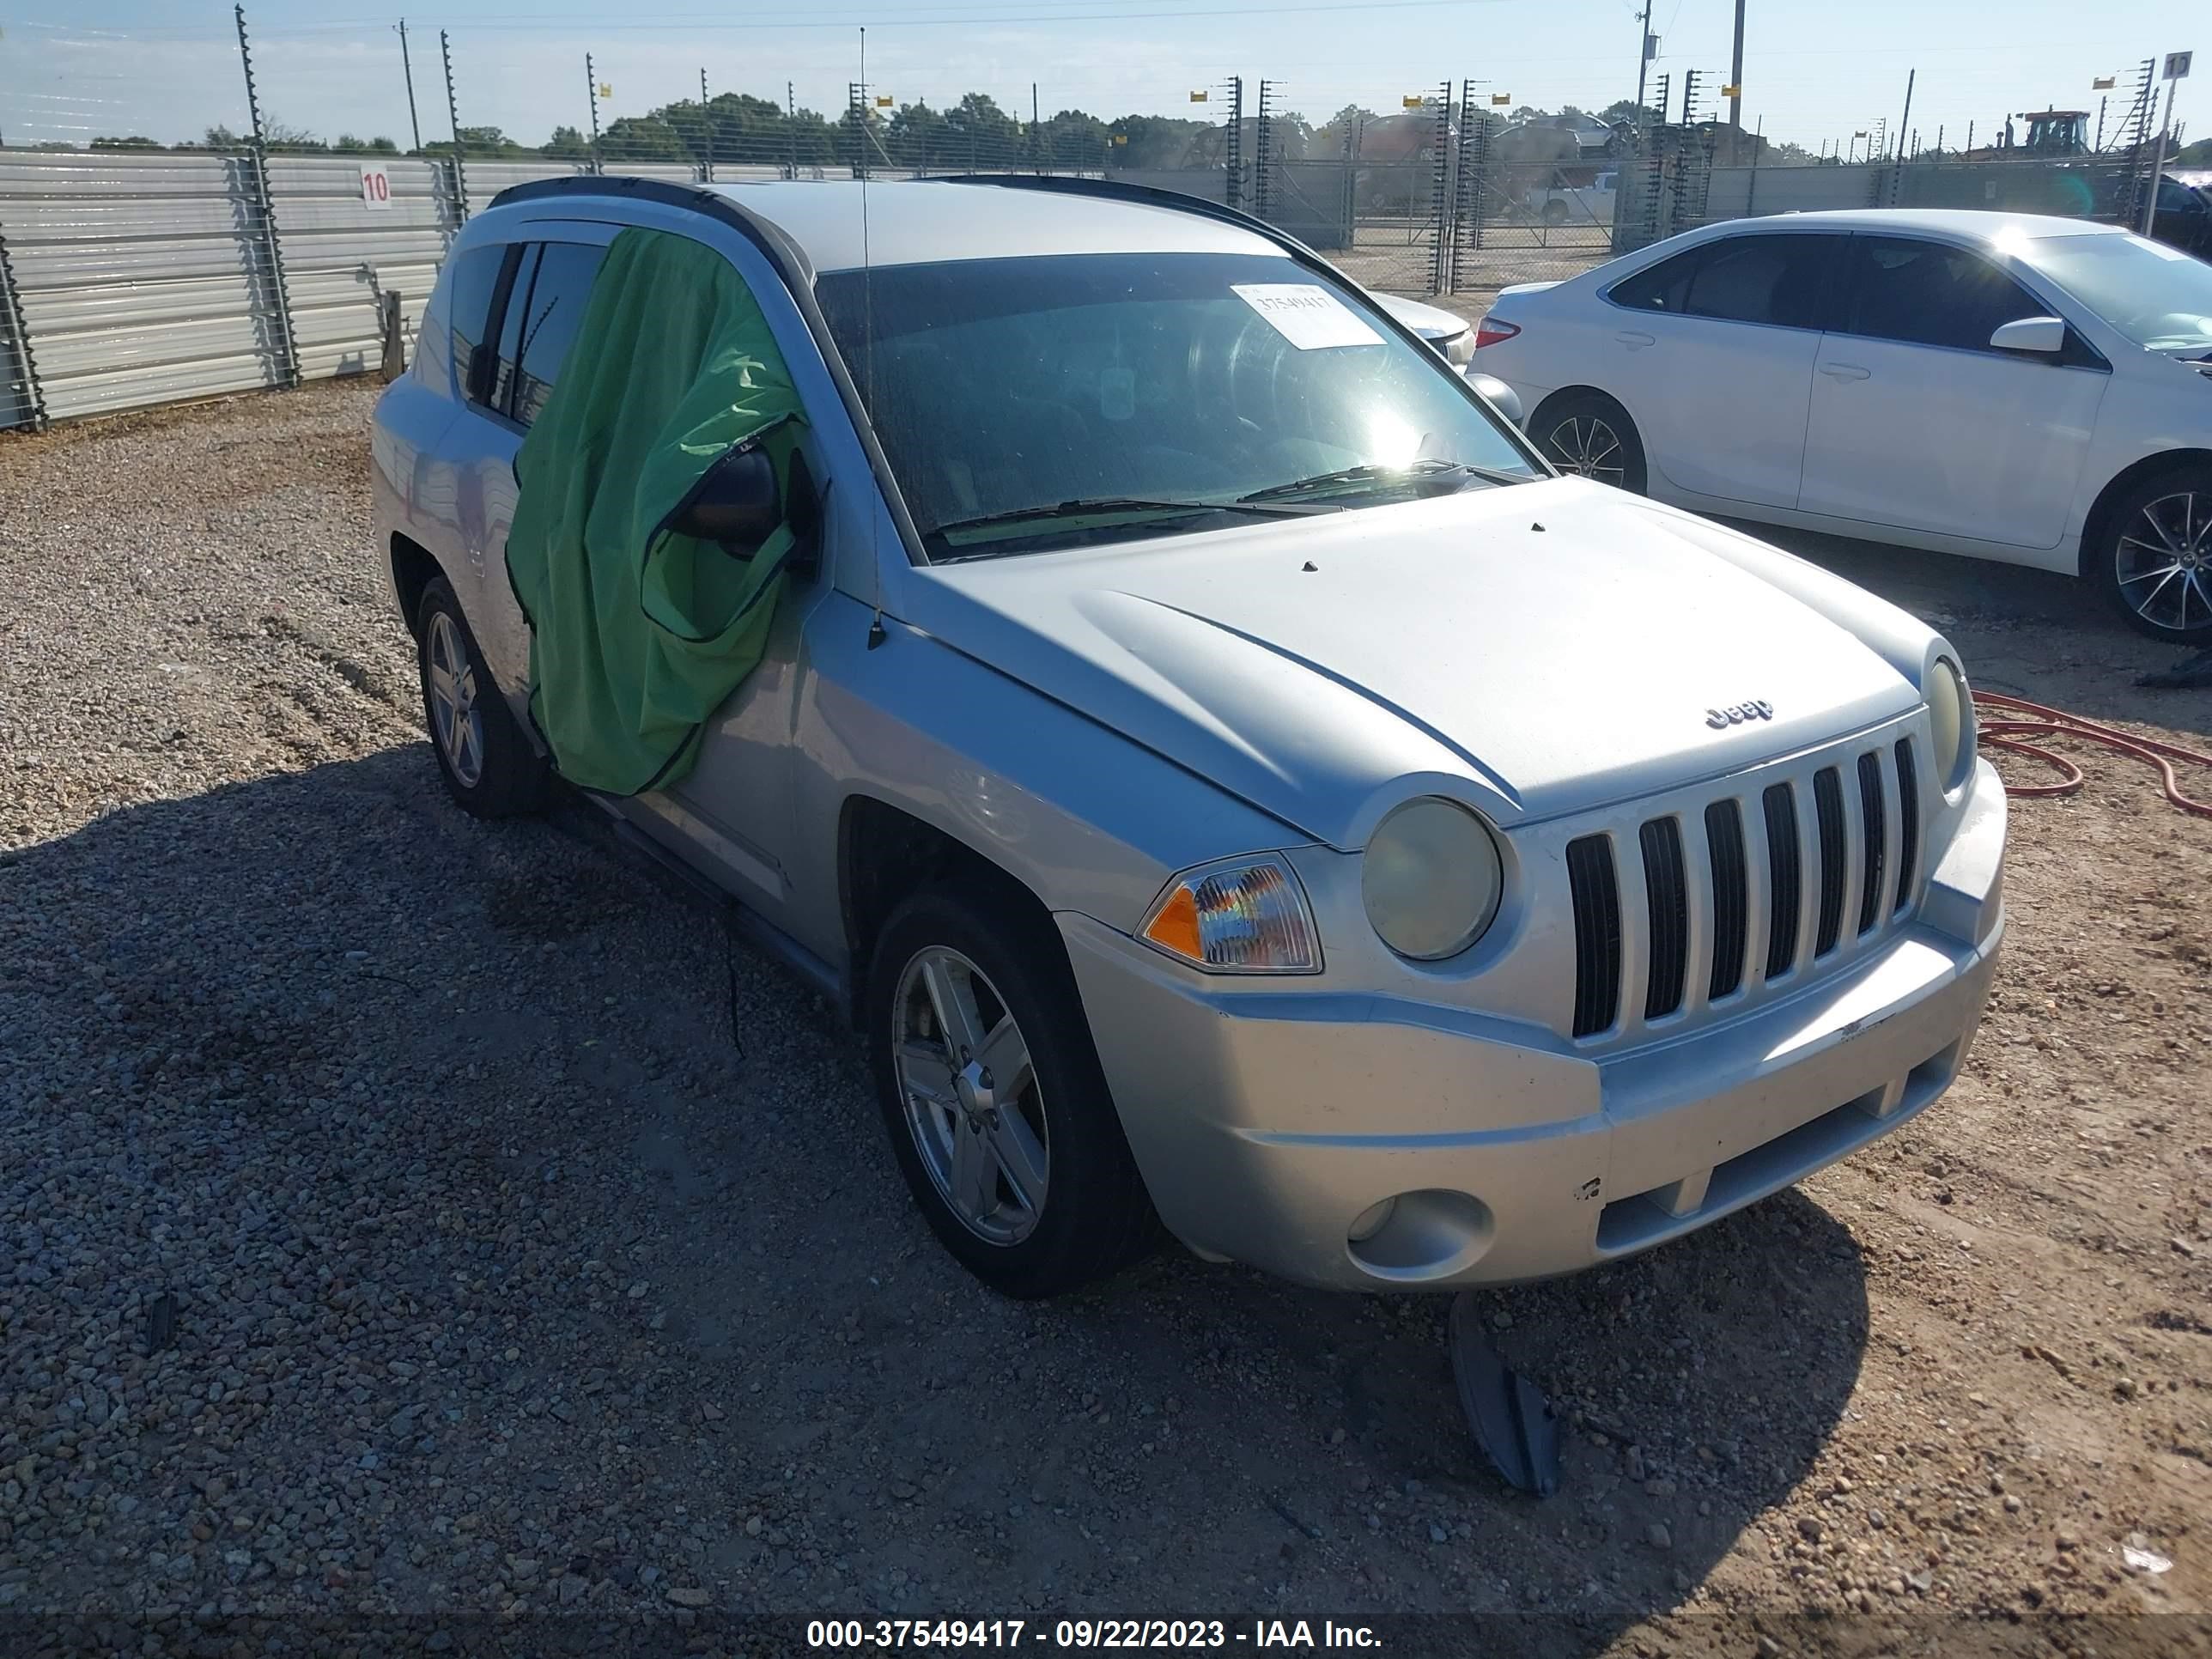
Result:
M422 139L449 135L438 33L449 33L460 119L526 144L588 126L584 55L613 86L602 122L697 97L708 86L836 113L847 82L900 104L987 91L1026 115L1219 115L1190 91L1230 75L1281 82L1279 108L1314 122L1345 104L1396 111L1442 80L1475 80L1515 104L1604 108L1637 91L1641 0L442 0L407 18ZM1650 0L1655 75L1701 71L1710 104L1728 80L1732 0ZM204 0L0 0L0 139L84 144L97 133L175 142L246 126L230 7ZM2002 18L2002 27L1993 27ZM1933 146L1984 142L2008 111L2088 108L2093 75L2117 75L2115 115L2143 58L2205 49L2179 82L2174 119L2212 133L2212 11L2197 0L1747 0L1743 124L1818 150L1909 119ZM248 4L263 115L319 137L411 139L398 11L358 0ZM2201 35L2201 40L2199 40ZM1905 115L1907 75L1911 115ZM1250 104L1248 104L1250 108ZM1677 106L1679 108L1679 106ZM2163 91L2161 91L2163 111ZM1865 144L1860 144L1865 148Z

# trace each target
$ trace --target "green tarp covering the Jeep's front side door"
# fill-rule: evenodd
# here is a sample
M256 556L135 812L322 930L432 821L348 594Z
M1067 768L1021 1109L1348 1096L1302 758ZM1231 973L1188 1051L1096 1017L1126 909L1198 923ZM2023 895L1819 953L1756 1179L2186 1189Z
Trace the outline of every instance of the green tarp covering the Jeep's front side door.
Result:
M799 396L730 261L624 230L522 440L507 573L531 624L531 719L571 783L690 772L708 717L761 661L781 526L752 560L668 529L706 471L759 440L790 500Z

